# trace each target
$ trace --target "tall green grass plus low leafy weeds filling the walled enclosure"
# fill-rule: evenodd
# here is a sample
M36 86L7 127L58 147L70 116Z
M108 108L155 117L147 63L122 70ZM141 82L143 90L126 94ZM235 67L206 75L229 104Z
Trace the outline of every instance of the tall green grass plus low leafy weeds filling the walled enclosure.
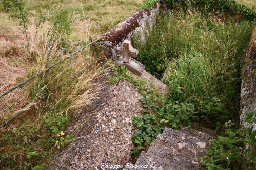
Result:
M146 42L133 35L133 45L140 51L137 59L170 87L167 98L149 94L141 99L144 115L132 118L139 129L132 138L134 158L166 126L200 123L222 132L229 121L238 127L240 58L254 26L248 21L222 22L196 11L173 10L160 13Z

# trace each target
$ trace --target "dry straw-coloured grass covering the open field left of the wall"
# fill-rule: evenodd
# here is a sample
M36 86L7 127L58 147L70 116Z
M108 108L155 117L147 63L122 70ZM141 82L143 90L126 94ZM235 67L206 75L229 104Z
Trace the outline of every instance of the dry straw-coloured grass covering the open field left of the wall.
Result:
M97 38L134 12L141 2L142 0L30 1L27 6L32 8L27 29L29 48L26 47L19 21L11 19L9 13L0 13L0 92L85 46L90 37ZM67 9L72 16L70 35L52 32L51 17L61 9ZM36 29L39 13L44 14L47 21ZM53 41L50 55L49 41ZM67 48L65 52L64 48ZM94 113L87 113L84 109L95 103L108 86L106 74L109 65L100 63L102 57L104 58L101 54L94 54L88 47L50 69L47 75L35 78L0 99L0 123L17 110L26 110L0 131L0 136L6 138L0 138L1 169L8 166L15 169L32 168L46 161L54 147L55 141L52 140L60 141L50 129L55 124L45 125L47 120L52 119L53 123L59 124L58 121L61 120L58 118L65 117L66 114L78 117L79 121L69 127L76 131L92 122ZM96 64L84 70L93 63ZM14 136L15 141L11 140ZM6 147L2 148L2 144ZM17 148L17 145L20 147ZM32 151L37 155L28 159L27 154ZM25 161L31 164L25 165Z

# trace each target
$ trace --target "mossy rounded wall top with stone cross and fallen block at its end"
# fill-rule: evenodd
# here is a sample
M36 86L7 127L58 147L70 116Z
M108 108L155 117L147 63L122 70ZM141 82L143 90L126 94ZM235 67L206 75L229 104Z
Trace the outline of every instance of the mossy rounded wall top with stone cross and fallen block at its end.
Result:
M156 21L159 8L160 4L156 4L151 11L137 11L102 35L103 39L98 44L116 66L124 65L136 75L143 74L145 65L134 59L139 51L132 47L131 35L138 34L140 41L145 42Z

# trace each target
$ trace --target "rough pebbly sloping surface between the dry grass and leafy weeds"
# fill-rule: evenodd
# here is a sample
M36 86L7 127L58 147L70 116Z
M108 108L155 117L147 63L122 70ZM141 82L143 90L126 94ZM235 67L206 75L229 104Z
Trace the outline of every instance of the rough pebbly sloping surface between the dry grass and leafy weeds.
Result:
M91 131L80 135L64 149L56 151L52 169L101 169L103 163L131 162L131 137L136 130L131 116L140 115L141 94L132 83L117 82L108 88L111 92L101 108L94 113Z

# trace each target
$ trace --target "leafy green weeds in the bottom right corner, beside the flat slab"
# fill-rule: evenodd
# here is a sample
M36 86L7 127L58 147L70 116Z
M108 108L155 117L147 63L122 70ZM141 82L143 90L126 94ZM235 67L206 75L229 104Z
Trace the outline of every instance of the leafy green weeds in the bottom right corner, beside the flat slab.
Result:
M236 128L231 121L225 123L225 136L210 140L207 156L201 159L206 169L255 169L256 131L250 128L256 123L255 115L252 111L247 113L246 130Z

